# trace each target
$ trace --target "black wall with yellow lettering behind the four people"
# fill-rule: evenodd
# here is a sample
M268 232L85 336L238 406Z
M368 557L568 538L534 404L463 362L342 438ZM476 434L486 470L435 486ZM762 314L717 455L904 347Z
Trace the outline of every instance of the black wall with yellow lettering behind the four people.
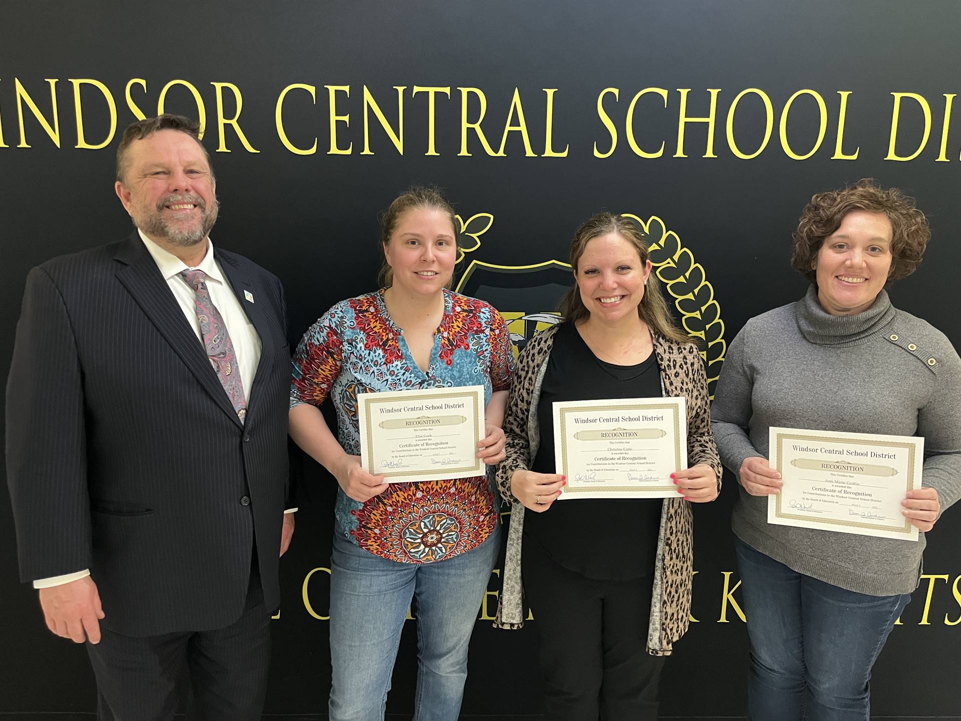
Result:
M214 242L280 276L292 339L335 301L375 286L378 212L399 190L433 183L446 188L465 221L479 213L493 216L489 229L477 237L479 247L466 255L461 274L478 261L464 287L497 295L508 317L552 310L556 273L562 271L505 273L505 266L564 261L579 222L602 208L634 213L646 223L660 218L677 237L664 240L662 277L678 277L673 269L678 266L687 271L685 284L694 279L688 291L709 286L710 293L697 297L717 302L716 308L693 309L690 301L681 303L692 313L692 329L712 341L708 355L716 376L725 343L749 317L804 291L805 281L788 262L790 234L803 204L814 192L873 176L915 194L933 231L919 271L891 290L895 304L961 345L961 102L953 103L954 94L961 93L959 25L961 6L933 0L5 4L0 8L0 372L6 375L9 367L27 271L130 230L112 190L118 137L103 149L77 147L85 144L78 138L78 112L86 145L103 143L111 128L105 95L93 84L72 82L79 80L107 88L118 133L136 119L128 93L140 112L151 115L171 81L196 89L222 202ZM56 123L47 79L56 79ZM219 86L219 113L214 84L236 88ZM278 98L293 84L314 87L315 102L308 89L291 89L281 109L283 132L301 149L309 149L316 137L313 154L292 152L279 131ZM80 87L79 111L75 86ZM349 87L349 94L326 86ZM399 92L403 97L403 155L372 111L369 152L364 152L365 87L396 134ZM427 155L431 96L423 90L414 94L415 87L450 88L449 98L443 92L433 95L435 155ZM480 127L490 153L497 153L515 88L530 153L519 130L508 134L503 156L489 154L478 134L468 130L469 155L463 153L462 102L473 122L482 93L486 114ZM618 89L616 98L613 92L603 98L617 133L609 155L611 134L598 111L605 88ZM661 89L637 99L631 127L639 151L656 153L664 142L657 158L635 153L627 135L628 107L645 88ZM716 98L712 153L707 123L678 120L685 88L688 116L707 115L712 94ZM735 98L749 88L754 91L730 113ZM783 109L799 91L804 92L782 126ZM728 141L728 117L741 155L754 154L766 134L764 97L772 107L769 140L756 157L738 157ZM233 118L238 98L237 125L224 125L221 141L218 117ZM558 154L566 149L564 157L546 152L549 98L553 149ZM818 145L819 98L825 127ZM946 117L947 101L954 108ZM183 83L169 88L165 107L198 114ZM925 107L930 127L920 147ZM350 154L329 152L333 114L349 115L349 123L335 124L335 134L338 147L351 147ZM511 123L519 125L516 108ZM893 126L897 137L891 152ZM684 142L678 150L680 128ZM51 135L58 136L59 147ZM809 158L791 157L805 156L816 145ZM916 150L911 160L898 159ZM849 158L855 151L856 159ZM466 232L476 234L486 222L486 216L474 218ZM655 238L659 228L656 221L650 224ZM692 263L700 264L702 278L699 270L689 270ZM683 285L673 287L675 295L683 294ZM523 334L524 322L517 321L512 330ZM327 622L308 611L309 604L316 615L327 615L326 572L314 572L304 588L312 569L329 565L333 481L316 468L308 475L312 503L298 513L294 544L283 563L284 600L274 622L267 702L271 713L326 710ZM694 616L699 623L668 665L662 684L665 715L744 714L746 636L733 605L740 592L725 593L738 583L727 525L734 494L734 482L727 479L717 503L695 509ZM878 716L961 718L956 691L961 512L946 513L928 541L923 583L875 667ZM496 579L490 587L497 587ZM486 603L493 613L493 595ZM36 592L16 583L12 516L3 493L0 619L0 715L93 709L84 650L49 634ZM412 706L414 624L407 626L388 702L395 712ZM533 659L530 627L507 633L480 621L471 647L465 714L535 713Z

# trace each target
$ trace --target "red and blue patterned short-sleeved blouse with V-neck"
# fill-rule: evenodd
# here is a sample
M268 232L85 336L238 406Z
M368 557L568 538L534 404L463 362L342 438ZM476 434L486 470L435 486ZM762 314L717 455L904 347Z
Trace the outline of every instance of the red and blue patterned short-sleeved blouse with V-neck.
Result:
M294 354L290 406L320 406L332 396L337 439L347 453L359 456L358 392L483 385L486 404L491 393L509 387L513 369L501 314L483 301L445 290L444 317L425 373L379 290L341 301L310 326ZM337 488L334 512L345 535L384 559L450 559L479 546L496 528L492 479L488 474L393 484L366 503Z

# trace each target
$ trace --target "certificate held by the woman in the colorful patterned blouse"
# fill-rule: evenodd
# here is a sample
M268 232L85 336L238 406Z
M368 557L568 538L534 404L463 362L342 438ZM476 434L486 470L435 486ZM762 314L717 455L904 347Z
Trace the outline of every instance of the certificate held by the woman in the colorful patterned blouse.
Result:
M360 463L388 484L482 476L483 386L358 393Z

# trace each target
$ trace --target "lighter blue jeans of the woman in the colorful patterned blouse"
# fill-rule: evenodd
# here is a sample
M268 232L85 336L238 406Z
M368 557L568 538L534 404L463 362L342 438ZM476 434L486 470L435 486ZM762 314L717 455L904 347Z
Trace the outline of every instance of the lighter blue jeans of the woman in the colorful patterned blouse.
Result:
M456 721L467 645L500 548L500 524L477 548L434 563L400 563L333 534L331 721L383 718L407 607L417 600L413 721Z

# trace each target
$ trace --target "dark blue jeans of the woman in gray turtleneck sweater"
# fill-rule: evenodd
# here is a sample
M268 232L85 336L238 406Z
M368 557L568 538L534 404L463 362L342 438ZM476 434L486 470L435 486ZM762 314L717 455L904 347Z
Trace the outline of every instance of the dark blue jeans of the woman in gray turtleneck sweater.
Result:
M869 596L735 539L751 641L752 721L868 721L868 682L909 594Z

